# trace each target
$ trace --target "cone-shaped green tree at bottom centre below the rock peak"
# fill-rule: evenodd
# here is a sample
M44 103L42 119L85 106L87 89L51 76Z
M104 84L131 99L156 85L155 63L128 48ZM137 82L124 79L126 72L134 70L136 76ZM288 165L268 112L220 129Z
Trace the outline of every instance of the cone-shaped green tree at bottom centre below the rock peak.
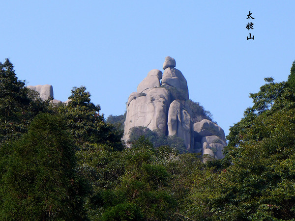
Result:
M174 217L172 211L177 202L168 188L171 174L158 161L162 157L157 153L143 137L122 152L125 171L112 191L113 197L104 198L105 220L111 220L110 211L126 216L126 207L137 214L135 220L141 217L143 220L171 220Z

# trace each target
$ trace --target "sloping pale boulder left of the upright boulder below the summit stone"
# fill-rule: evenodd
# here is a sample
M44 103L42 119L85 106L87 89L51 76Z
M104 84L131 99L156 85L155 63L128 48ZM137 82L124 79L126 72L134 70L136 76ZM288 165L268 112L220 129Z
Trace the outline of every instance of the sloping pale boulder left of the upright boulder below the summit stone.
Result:
M144 90L152 87L160 87L160 80L162 79L162 72L157 69L153 69L148 72L148 76L138 84L137 92L141 93Z

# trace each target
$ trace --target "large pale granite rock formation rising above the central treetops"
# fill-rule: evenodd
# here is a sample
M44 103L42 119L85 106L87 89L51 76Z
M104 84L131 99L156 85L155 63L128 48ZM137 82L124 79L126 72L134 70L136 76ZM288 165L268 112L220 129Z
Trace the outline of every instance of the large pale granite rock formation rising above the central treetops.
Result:
M166 57L164 73L151 70L137 86L137 92L130 94L123 139L128 141L133 127L143 126L166 136L177 135L184 140L188 152L223 158L224 131L207 119L193 121L185 102L189 99L187 82L175 67L175 59Z

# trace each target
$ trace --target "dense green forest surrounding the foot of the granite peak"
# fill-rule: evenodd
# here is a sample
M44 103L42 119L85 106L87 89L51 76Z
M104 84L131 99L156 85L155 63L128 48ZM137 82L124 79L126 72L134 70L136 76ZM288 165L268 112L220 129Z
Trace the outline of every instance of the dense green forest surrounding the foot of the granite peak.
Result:
M0 62L0 220L295 220L295 61L265 81L213 160L173 138L126 148L85 86L53 105Z

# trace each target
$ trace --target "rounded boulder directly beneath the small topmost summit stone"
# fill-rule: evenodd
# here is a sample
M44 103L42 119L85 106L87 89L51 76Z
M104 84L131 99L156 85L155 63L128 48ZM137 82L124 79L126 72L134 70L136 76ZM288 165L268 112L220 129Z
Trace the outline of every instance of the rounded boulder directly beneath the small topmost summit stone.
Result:
M168 67L163 73L162 85L165 84L175 87L184 95L184 99L188 99L188 88L187 82L183 77L182 73L176 68Z

